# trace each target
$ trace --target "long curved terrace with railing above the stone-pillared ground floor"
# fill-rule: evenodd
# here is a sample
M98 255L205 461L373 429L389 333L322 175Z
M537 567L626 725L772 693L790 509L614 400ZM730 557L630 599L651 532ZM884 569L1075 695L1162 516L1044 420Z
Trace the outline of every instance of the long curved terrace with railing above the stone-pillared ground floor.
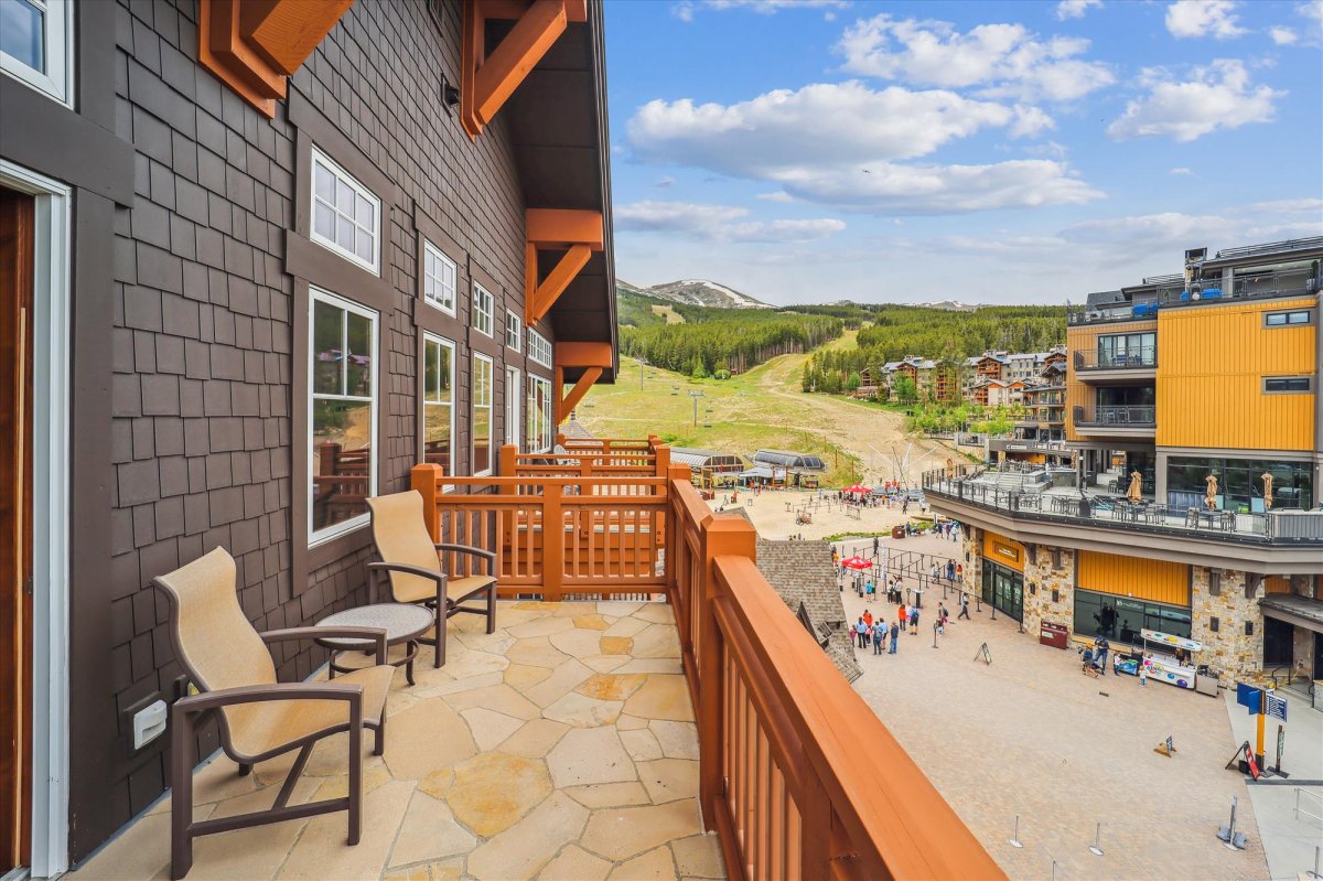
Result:
M1265 573L1273 571L1267 562L1286 566L1282 571L1323 571L1323 511L1245 513L1220 505L1209 509L1203 499L1184 496L1159 503L1151 487L1134 503L1126 497L1121 475L1105 485L1081 487L1073 468L1019 463L929 471L922 484L935 511L1012 537L1019 532L1029 541L1068 544L1069 538L1077 546L1110 545L1115 553L1131 554L1151 546L1168 557L1184 552L1188 561L1204 565L1225 558L1225 565L1237 569L1262 561L1256 571Z

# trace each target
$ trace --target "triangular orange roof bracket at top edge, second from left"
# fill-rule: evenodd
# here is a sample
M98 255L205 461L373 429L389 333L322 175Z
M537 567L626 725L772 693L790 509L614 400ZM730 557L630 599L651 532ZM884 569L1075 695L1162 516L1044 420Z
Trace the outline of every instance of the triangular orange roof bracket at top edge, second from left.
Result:
M487 20L515 26L487 56ZM570 21L587 21L587 0L464 0L459 119L474 140L537 66Z

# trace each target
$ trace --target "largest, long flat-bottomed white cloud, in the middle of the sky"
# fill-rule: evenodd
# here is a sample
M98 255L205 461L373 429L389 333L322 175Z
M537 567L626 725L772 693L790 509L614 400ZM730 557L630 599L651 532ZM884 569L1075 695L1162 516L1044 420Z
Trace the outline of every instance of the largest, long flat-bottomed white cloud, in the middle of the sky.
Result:
M642 159L774 183L796 201L849 210L945 214L1101 197L1060 161L897 161L987 127L1016 136L1050 126L1035 107L898 86L876 91L852 81L773 91L736 105L654 101L639 108L627 131Z

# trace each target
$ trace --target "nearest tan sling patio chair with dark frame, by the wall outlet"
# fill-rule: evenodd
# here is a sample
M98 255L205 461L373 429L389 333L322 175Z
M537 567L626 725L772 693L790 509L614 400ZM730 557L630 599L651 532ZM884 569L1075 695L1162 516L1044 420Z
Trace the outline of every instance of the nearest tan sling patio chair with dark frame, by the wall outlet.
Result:
M386 692L394 667L386 665L386 635L364 627L295 627L259 634L239 607L234 558L216 550L152 579L169 605L175 656L197 687L197 694L175 701L171 710L171 877L183 878L193 865L193 839L318 814L349 812L349 844L357 844L363 806L363 729L376 730L381 755L386 734ZM270 643L321 636L355 636L376 642L377 664L335 683L278 683ZM274 804L216 820L193 820L196 724L214 712L221 749L247 774L258 762L299 750ZM294 784L312 747L323 738L349 733L349 792L345 798L290 806Z

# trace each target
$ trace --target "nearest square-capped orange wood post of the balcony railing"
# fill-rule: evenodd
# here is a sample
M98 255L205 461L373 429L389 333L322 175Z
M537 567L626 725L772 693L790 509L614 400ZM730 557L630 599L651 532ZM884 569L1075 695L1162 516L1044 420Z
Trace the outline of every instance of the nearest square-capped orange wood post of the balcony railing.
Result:
M699 722L699 803L703 808L703 825L708 831L717 828L717 812L725 798L722 784L721 754L722 742L721 705L724 701L722 665L725 647L717 626L714 603L721 599L721 582L717 578L714 560L717 557L747 557L755 560L758 533L744 517L734 515L709 516L703 526L703 585L693 586L697 599L701 587L703 608L699 616L701 652L699 661L699 706L695 708ZM811 877L811 876L806 876Z

